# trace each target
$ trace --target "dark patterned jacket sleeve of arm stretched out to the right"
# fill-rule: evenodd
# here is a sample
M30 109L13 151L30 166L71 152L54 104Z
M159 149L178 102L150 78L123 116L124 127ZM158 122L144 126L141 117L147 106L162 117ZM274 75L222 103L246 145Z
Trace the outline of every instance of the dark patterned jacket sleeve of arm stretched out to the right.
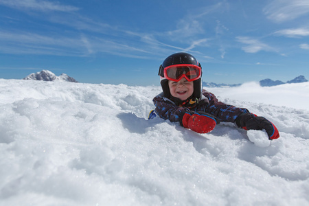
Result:
M203 90L203 95L207 98L209 104L203 104L199 110L214 115L222 122L235 122L235 119L242 113L249 113L247 108L239 108L220 102L216 95L206 90Z

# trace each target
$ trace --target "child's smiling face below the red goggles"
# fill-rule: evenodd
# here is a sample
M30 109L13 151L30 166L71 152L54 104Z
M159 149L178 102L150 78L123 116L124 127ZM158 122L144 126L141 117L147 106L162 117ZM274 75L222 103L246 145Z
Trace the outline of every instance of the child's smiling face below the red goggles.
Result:
M170 88L170 94L174 98L181 100L190 98L194 91L193 82L188 82L185 78L182 78L179 82L168 80L168 87Z

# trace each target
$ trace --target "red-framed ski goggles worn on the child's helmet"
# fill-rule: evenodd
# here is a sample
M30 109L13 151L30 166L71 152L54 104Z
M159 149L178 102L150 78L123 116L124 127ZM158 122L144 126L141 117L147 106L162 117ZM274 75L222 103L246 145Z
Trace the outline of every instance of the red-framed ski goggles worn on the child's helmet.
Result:
M192 82L198 80L202 76L202 69L196 65L171 65L164 68L164 78L179 82L182 78Z

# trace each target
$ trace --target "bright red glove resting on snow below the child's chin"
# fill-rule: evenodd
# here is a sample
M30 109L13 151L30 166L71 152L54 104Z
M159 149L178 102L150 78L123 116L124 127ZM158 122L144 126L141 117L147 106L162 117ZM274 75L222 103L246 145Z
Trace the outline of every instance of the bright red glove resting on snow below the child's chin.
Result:
M194 113L187 111L181 119L181 125L185 128L190 128L196 133L209 133L214 129L220 120L204 112Z

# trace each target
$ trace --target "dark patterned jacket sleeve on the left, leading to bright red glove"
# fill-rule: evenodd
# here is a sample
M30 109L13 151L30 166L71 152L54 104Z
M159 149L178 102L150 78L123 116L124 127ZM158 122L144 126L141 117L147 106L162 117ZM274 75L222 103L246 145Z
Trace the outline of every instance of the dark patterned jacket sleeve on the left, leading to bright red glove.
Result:
M176 104L166 100L161 95L157 95L152 101L156 106L155 112L157 115L165 120L170 120L170 122L180 122L185 111L189 111L188 108L176 106Z

